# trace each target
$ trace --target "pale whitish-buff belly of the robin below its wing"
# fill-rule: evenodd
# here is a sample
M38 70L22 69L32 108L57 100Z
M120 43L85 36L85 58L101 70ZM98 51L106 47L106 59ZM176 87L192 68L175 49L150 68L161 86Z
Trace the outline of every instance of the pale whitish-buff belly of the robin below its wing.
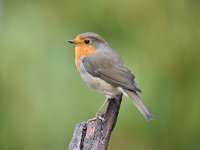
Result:
M80 74L81 78L86 82L86 84L90 88L105 95L107 98L113 98L119 93L121 93L118 87L114 87L111 84L105 82L104 80L97 77L93 77L90 74L88 74L82 62L80 63Z

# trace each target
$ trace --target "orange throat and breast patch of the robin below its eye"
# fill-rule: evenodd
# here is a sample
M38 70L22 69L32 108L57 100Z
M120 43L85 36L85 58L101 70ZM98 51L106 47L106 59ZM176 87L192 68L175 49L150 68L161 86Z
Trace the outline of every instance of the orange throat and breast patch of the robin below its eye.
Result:
M95 47L92 45L76 45L75 48L75 64L76 68L80 70L80 61L87 55L91 55L95 52Z

